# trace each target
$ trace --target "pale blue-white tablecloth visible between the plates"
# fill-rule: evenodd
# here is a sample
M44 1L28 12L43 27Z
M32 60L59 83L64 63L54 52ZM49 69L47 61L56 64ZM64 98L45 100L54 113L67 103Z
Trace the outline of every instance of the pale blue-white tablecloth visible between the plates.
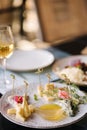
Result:
M54 55L55 60L66 57L66 56L69 56L68 53L60 51L60 50L52 48L52 47L47 48L47 50L50 51ZM0 77L2 77L2 73L3 73L3 71L0 68ZM46 73L50 73L52 79L58 78L52 72L52 65L50 65L50 66L46 67L44 69L43 73L41 74L41 81L44 82L44 83L47 82L47 78L45 76ZM38 75L35 73L35 71L32 71L32 72L29 72L29 71L27 71L27 72L12 72L12 71L7 70L6 75L7 75L8 78L10 78L11 74L14 74L15 77L16 77L15 87L23 86L24 85L24 82L23 82L24 80L27 80L28 83L39 82ZM4 84L3 85L0 84L0 92L2 94L7 92L9 89L12 89L12 85L5 86Z

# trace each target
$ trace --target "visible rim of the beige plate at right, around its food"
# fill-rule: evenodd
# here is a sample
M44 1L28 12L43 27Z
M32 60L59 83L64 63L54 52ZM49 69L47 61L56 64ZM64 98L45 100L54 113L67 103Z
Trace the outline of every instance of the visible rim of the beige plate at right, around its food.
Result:
M54 65L52 67L52 70L59 78L62 79L62 76L60 76L60 74L58 73L58 70L62 70L65 66L70 65L72 63L72 61L75 61L75 60L81 60L81 62L87 64L87 56L86 55L68 56L66 58L62 58L60 60L57 60L54 63ZM74 82L74 83L79 85L79 86L87 86L87 82L86 81L83 81L83 82L79 82L78 81L78 82Z

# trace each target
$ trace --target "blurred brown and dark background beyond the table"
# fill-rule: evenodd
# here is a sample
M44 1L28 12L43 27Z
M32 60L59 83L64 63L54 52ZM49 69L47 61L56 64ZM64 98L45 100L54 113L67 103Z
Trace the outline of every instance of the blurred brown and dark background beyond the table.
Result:
M16 44L84 53L87 0L0 0L0 24L12 26Z

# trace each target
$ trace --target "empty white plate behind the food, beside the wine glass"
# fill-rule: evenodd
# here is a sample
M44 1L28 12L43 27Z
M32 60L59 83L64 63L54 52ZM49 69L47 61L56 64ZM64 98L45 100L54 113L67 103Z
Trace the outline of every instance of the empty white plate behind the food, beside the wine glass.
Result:
M7 60L7 69L13 71L32 71L47 67L52 64L53 61L53 54L46 50L16 50Z

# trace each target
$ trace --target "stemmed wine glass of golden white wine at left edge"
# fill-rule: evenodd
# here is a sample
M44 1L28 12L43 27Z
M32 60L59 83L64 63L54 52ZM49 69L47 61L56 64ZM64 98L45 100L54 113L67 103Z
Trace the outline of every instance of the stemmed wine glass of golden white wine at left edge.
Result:
M0 59L3 67L3 79L1 83L5 86L10 84L6 77L6 60L14 51L14 39L11 27L9 25L0 25Z

